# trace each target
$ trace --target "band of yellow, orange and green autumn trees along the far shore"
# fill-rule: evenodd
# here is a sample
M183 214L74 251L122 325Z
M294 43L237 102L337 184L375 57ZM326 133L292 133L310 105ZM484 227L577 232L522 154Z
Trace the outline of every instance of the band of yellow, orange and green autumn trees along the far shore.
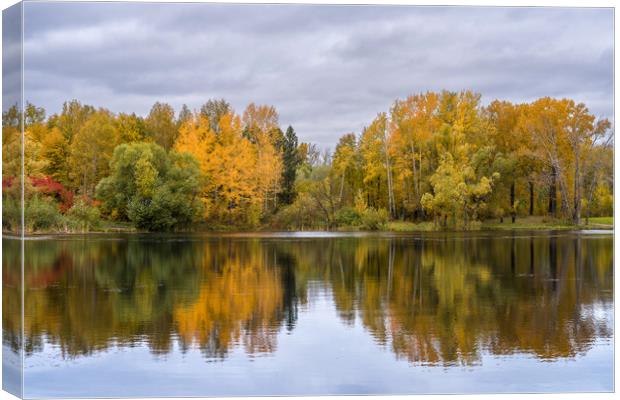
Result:
M21 117L3 114L6 231L21 220ZM299 143L273 106L238 114L223 99L146 117L28 104L23 124L26 232L576 227L613 214L611 124L570 99L414 94L333 152Z

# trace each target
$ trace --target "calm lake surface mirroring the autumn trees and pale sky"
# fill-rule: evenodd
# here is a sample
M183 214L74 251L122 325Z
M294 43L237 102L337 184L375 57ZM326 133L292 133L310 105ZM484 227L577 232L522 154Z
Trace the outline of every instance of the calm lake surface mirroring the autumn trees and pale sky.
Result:
M20 242L3 249L6 380ZM24 252L26 397L613 390L610 232L92 234Z

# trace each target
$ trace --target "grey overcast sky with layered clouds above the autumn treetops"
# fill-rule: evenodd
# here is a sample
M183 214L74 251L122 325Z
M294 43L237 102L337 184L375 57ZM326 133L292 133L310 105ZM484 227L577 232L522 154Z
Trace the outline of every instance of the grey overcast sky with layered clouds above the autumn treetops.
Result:
M332 147L393 101L472 89L613 117L613 11L566 8L26 3L25 96L146 115L223 97L274 105Z

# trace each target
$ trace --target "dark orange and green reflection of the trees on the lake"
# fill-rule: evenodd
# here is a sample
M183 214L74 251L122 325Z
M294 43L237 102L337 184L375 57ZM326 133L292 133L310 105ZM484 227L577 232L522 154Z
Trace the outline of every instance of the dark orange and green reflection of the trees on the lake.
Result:
M19 243L4 241L10 258ZM570 358L613 335L612 246L612 236L578 234L30 240L25 351L47 343L75 358L147 345L165 355L177 343L207 360L237 348L268 355L279 332L295 335L319 287L343 328L360 323L413 364ZM13 347L14 318L3 314Z

